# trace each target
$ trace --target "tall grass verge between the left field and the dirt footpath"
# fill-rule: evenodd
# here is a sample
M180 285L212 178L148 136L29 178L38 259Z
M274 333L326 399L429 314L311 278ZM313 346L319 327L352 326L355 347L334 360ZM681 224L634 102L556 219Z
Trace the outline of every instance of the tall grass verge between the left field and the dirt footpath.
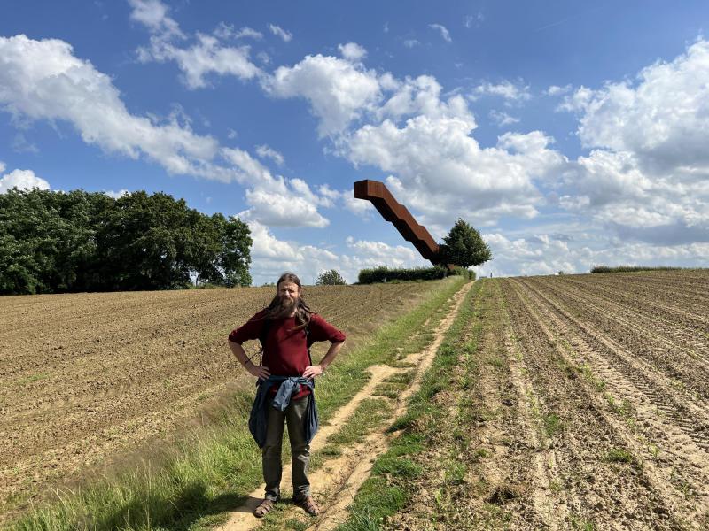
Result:
M346 357L331 366L317 384L323 422L362 389L373 364L393 363L397 348L409 347L429 318L464 284L462 277L440 281L412 311L379 327ZM412 339L419 341L419 339ZM261 483L261 453L247 428L253 389L233 396L221 419L211 427L193 429L159 459L111 477L95 478L74 489L60 489L56 500L30 509L9 524L12 531L124 531L206 529L228 518L245 496ZM160 464L154 464L160 463Z

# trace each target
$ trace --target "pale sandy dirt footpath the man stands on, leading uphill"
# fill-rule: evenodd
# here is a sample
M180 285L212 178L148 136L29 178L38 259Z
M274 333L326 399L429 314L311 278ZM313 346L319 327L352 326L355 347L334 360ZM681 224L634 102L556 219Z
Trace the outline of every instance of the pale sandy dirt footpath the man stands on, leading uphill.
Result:
M406 365L415 366L416 375L410 387L403 391L395 401L392 400L393 413L385 421L385 427L373 431L365 437L362 443L343 450L341 456L329 459L324 466L308 474L311 488L316 493L316 500L321 508L324 509L322 516L316 519L316 523L309 527L310 529L318 531L329 530L337 527L339 523L347 518L347 505L351 504L354 494L369 476L374 460L388 446L391 435L386 434L386 426L405 412L409 396L419 388L423 374L431 366L435 353L440 347L440 342L442 342L448 327L455 319L456 313L463 303L464 296L471 289L471 286L472 283L465 284L453 296L453 307L448 312L448 316L441 321L432 343L425 350L411 354L402 360ZM327 426L321 428L311 444L311 453L323 448L327 442L328 435L337 433L347 423L347 419L352 416L357 405L361 404L365 398L372 396L372 392L382 381L393 374L404 373L409 370L409 367L371 366L371 378L368 384L333 416ZM284 477L281 484L287 486L290 481L290 466L286 465L284 466ZM253 509L260 503L264 489L265 485L255 489L249 495L247 502L231 514L229 521L218 527L219 531L245 531L259 527L261 521L253 517ZM285 509L281 518L312 521L305 520L303 512L294 507Z

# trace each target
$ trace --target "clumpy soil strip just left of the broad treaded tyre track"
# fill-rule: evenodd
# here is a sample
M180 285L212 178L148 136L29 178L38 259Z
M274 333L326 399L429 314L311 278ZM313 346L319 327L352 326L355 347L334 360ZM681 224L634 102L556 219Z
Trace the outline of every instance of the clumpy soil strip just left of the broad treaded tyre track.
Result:
M565 364L543 319L519 281L504 281L510 319L525 349L542 423L557 458L569 527L681 529L662 492L648 482L593 394ZM623 458L618 458L623 456Z

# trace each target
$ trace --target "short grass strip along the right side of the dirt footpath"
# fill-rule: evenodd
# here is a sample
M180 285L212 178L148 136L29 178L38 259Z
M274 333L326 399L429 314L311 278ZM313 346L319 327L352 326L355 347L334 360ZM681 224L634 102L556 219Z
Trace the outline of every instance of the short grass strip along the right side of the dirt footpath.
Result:
M396 419L390 431L402 430L389 449L374 463L372 473L354 496L347 522L338 531L379 529L386 517L400 512L409 503L409 482L423 473L423 468L411 458L425 450L425 430L415 429L423 424L435 429L434 422L425 422L444 415L443 408L435 404L433 396L445 389L460 352L470 341L465 330L471 327L476 312L476 301L483 282L478 281L466 295L456 319L448 328L431 368L425 373L421 387L411 397L407 412ZM477 344L477 338L473 338ZM459 471L451 472L455 480ZM455 477L453 477L455 476Z

